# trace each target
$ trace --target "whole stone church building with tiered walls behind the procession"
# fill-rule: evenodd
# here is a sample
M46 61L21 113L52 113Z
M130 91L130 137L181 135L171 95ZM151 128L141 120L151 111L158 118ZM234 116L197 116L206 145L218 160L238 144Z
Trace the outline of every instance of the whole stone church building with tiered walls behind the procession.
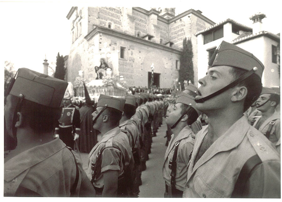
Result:
M87 81L95 79L95 66L105 58L113 74L136 87L148 87L154 63L155 84L160 88L170 88L178 78L185 37L192 41L197 81L195 34L215 24L199 10L175 16L175 8L72 7L67 19L71 34L70 52L65 57L67 81L74 82L79 71Z

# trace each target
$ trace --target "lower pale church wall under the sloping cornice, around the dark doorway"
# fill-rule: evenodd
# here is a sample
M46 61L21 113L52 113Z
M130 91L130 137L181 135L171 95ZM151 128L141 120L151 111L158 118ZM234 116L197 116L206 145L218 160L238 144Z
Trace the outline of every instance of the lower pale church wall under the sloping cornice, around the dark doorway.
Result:
M124 58L120 58L120 53L118 53L118 71L128 86L148 86L148 72L151 72L152 63L155 66L154 72L160 73L161 88L170 88L173 80L178 77L175 60L179 60L180 55L102 33L97 34L96 38L93 37L89 42L97 40L97 36L99 37L100 52L105 49L105 46L111 51L119 51L121 46L125 47ZM92 53L89 53L89 56L91 55ZM93 70L93 64L89 63L88 66L91 67L90 70ZM85 74L89 73L85 72Z

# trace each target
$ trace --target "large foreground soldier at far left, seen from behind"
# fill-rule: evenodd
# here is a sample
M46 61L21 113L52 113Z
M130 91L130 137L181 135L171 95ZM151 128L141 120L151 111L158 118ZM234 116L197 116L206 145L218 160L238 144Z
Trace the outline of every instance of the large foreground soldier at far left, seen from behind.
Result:
M95 196L76 152L54 128L68 83L20 68L5 93L4 196Z

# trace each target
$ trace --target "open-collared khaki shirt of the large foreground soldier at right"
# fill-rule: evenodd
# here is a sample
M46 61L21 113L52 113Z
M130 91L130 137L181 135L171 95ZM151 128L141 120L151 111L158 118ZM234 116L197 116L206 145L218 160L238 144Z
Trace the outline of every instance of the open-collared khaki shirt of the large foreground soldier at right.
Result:
M194 165L208 132L204 126L195 138L183 197L231 197L245 162L258 154L257 165L247 181L251 198L280 198L280 156L270 141L248 124L245 116L219 137Z

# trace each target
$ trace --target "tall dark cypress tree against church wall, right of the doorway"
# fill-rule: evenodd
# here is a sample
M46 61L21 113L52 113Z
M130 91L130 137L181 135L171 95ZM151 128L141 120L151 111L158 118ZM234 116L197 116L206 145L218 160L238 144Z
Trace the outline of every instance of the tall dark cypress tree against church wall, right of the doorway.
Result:
M179 82L181 83L181 88L184 89L184 81L191 80L194 83L194 70L193 70L193 51L191 39L183 40L183 51L180 57L180 67L179 67Z

